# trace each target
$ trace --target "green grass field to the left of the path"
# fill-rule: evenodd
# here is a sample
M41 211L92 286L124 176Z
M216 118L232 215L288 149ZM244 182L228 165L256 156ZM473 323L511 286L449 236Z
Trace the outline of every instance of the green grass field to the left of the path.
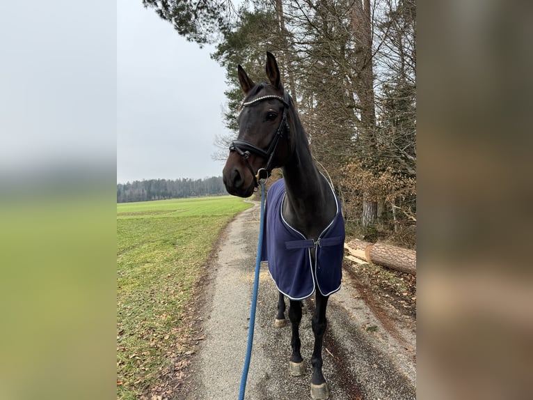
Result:
M237 197L117 204L117 398L159 385L188 334L184 307Z

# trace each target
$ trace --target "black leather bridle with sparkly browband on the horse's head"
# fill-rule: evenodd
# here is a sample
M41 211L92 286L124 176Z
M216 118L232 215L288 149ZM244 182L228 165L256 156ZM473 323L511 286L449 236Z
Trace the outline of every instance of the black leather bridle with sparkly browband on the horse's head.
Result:
M259 148L253 144L251 144L249 141L246 140L234 140L230 144L230 152L231 151L237 151L237 154L239 154L241 157L244 157L244 160L246 161L246 167L250 170L252 176L253 176L253 183L255 187L259 185L260 179L266 179L270 176L272 172L272 164L273 164L273 158L276 154L276 148L278 148L278 144L280 143L280 139L283 137L283 134L287 132L287 139L289 139L289 124L287 123L287 109L289 108L289 98L287 93L283 93L283 97L278 95L264 95L260 98L256 98L254 100L251 100L249 102L243 102L242 107L250 107L251 105L255 105L258 102L262 102L263 100L269 100L269 99L276 99L280 100L280 102L283 102L283 116L281 117L280 125L278 126L278 130L276 130L276 134L270 141L269 147L264 151L262 148ZM252 166L250 165L250 162L248 161L248 158L250 157L251 153L254 153L255 155L259 155L260 157L264 158L266 161L266 167L260 168L257 171L257 174L253 171Z

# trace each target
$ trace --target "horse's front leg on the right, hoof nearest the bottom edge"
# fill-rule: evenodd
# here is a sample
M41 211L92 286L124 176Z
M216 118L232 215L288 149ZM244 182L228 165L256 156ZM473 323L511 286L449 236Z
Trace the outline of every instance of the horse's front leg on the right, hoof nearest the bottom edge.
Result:
M322 341L326 332L326 307L328 306L328 296L324 296L317 290L317 305L315 314L312 316L311 326L315 334L315 346L311 356L312 378L311 397L313 399L327 399L329 397L328 385L322 374Z

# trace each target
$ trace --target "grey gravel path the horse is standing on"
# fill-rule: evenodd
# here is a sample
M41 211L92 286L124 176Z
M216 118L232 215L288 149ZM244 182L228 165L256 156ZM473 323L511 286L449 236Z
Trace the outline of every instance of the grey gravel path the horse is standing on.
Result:
M208 268L201 294L202 339L191 359L186 399L237 399L248 338L257 251L259 207L231 222ZM376 315L365 304L349 271L328 303L324 376L330 399L415 399L415 334L408 324ZM310 399L313 300L301 323L305 376L288 373L290 326L274 328L278 294L262 265L253 353L246 399ZM288 306L288 302L287 302ZM381 313L383 314L383 313Z

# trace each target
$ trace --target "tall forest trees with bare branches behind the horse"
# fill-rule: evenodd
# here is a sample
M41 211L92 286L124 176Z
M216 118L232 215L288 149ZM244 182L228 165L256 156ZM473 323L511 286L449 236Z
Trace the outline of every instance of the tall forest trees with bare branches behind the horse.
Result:
M414 0L143 0L227 70L227 157L243 94L240 64L264 77L266 51L342 199L351 233L415 247L416 4Z

